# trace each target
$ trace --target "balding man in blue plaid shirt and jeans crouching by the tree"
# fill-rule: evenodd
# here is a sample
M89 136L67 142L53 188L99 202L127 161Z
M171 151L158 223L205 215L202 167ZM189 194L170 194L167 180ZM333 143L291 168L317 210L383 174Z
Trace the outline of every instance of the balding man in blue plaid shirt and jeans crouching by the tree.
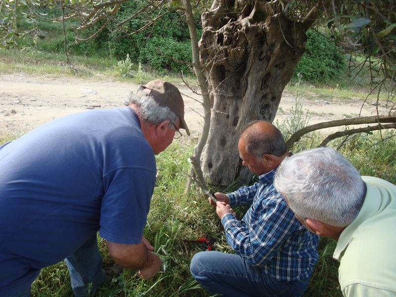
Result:
M225 235L235 254L203 251L191 273L211 294L224 296L301 296L318 259L317 235L297 220L273 180L289 156L281 132L266 121L244 128L238 143L242 164L259 182L228 194L216 193ZM231 206L251 205L239 221Z

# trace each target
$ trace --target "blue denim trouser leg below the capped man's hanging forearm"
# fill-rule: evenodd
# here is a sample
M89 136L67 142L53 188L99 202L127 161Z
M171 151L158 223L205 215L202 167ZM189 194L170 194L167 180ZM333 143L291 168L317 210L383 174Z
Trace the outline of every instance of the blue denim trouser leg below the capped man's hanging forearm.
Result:
M68 256L65 263L69 269L74 296L94 296L105 279L96 234Z

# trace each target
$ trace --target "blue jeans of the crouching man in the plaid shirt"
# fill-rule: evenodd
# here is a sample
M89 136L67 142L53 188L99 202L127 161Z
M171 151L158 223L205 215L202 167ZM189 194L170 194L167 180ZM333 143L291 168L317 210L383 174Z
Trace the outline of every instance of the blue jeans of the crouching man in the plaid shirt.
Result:
M265 275L260 267L246 264L236 254L201 251L191 260L190 270L210 294L227 297L299 297L309 281L278 281Z

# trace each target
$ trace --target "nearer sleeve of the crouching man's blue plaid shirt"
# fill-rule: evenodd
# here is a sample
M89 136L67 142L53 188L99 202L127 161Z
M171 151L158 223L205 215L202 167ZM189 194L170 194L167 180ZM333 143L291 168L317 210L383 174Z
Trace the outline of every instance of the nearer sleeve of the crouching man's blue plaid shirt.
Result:
M248 229L231 213L224 215L221 222L229 246L248 264L262 265L271 260L299 223L278 193L264 199L256 211L258 218Z

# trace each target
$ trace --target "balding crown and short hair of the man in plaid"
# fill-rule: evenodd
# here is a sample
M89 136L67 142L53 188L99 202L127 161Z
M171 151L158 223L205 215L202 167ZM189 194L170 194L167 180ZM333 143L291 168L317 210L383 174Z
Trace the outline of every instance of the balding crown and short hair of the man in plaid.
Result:
M268 133L265 133L262 129L250 128L259 122L266 121L251 122L243 129L242 137L246 140L246 151L256 158L261 158L263 154L272 154L278 157L285 154L287 147L281 131L269 122L266 122Z

